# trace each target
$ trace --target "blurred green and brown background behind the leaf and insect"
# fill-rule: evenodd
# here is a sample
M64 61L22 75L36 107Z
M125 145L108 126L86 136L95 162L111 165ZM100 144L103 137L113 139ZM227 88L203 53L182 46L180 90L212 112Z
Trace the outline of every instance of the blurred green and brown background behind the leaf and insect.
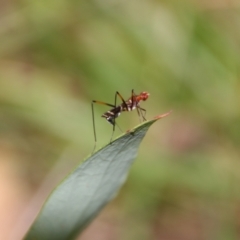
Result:
M29 211L91 153L91 100L132 89L151 94L147 118L173 112L79 240L240 239L239 14L237 0L1 0L0 239L21 239Z

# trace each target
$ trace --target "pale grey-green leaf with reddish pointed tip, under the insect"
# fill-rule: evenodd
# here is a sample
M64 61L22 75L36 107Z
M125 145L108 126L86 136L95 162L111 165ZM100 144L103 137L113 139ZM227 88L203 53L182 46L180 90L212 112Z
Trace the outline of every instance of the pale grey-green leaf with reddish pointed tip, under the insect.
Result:
M74 239L116 196L148 128L169 113L128 131L80 164L50 195L25 239Z

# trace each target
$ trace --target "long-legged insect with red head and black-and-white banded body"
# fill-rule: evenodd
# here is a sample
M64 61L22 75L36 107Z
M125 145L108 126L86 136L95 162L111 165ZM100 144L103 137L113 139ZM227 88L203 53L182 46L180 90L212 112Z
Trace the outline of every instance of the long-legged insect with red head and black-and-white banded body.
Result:
M96 100L92 101L93 132L94 132L94 140L95 140L95 145L94 145L93 152L95 150L96 143L97 143L94 109L93 109L94 104L97 103L97 104L102 104L102 105L106 105L106 106L111 107L110 110L108 110L108 111L106 111L105 113L102 114L102 117L105 118L110 124L113 125L112 136L111 136L111 139L110 139L110 143L111 143L112 138L113 138L113 134L114 134L114 131L115 131L115 126L117 125L116 118L119 117L121 112L130 112L134 109L137 109L137 113L138 113L140 122L141 122L141 120L146 121L146 118L145 118L146 110L144 108L140 107L140 102L141 101L146 101L148 99L149 95L150 94L148 92L141 92L139 95L137 95L137 94L134 93L134 90L132 90L131 97L126 101L124 100L124 98L122 97L122 95L119 92L116 92L115 93L114 105L109 104L109 103L105 103L105 102L101 102L101 101L96 101ZM122 101L122 103L120 105L117 105L117 97L119 97ZM117 127L119 128L118 125L117 125ZM121 131L121 129L120 129L120 131Z

